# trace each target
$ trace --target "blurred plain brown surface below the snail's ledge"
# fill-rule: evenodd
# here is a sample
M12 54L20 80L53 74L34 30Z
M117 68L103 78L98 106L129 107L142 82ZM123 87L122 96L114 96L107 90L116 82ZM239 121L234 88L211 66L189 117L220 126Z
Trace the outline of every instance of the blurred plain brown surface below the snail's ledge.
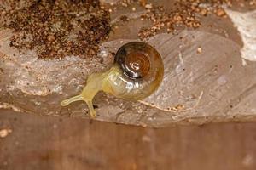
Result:
M0 110L0 169L256 168L256 123L132 127Z

